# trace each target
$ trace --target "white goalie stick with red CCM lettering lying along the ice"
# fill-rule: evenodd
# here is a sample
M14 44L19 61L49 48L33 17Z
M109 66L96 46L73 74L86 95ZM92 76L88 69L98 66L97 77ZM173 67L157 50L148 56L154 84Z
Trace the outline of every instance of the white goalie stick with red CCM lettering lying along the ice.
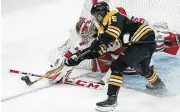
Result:
M22 71L13 70L13 69L10 69L9 72L14 73L14 74L26 75L25 77L27 77L27 76L42 77L42 75L28 73L28 72L22 72ZM67 72L67 74L68 73L69 72ZM88 72L88 73L85 73L85 74L87 75L87 74L90 74L90 73L92 73L92 72ZM82 75L85 75L85 74L82 74ZM50 77L45 77L45 78L50 79ZM104 85L98 84L97 82L85 81L85 80L81 80L81 79L67 78L67 77L62 77L61 80L59 81L59 83L76 85L76 86L93 88L93 89L102 89L104 87Z

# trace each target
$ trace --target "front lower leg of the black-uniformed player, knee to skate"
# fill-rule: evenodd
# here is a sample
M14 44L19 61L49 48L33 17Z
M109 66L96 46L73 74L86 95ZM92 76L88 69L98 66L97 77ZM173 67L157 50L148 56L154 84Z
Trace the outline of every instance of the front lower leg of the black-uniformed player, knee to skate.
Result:
M119 89L123 82L122 72L126 69L126 64L124 64L120 58L113 61L111 64L110 79L108 82L108 98L102 102L96 103L97 110L100 111L112 111L117 106L117 96Z

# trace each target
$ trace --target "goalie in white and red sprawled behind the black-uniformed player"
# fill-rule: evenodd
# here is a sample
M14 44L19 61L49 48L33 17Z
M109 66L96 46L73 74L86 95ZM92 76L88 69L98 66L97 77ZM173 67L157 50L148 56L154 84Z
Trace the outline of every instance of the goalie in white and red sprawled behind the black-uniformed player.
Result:
M122 15L127 16L130 20L134 22L140 22L144 24L148 24L150 27L154 29L156 32L156 51L157 52L165 52L171 55L176 55L179 46L180 46L180 34L177 32L171 31L168 28L168 25L166 23L148 23L144 18L138 18L134 17L131 15L128 15L122 7L117 8L116 10L119 11ZM101 31L99 30L101 27L92 19L87 19L84 17L80 17L78 22L76 23L75 28L71 30L71 35L70 38L65 41L63 45L60 47L57 47L54 49L51 53L52 56L50 56L50 60L53 63L52 67L53 69L56 68L57 66L60 66L64 63L64 61L71 57L72 54L81 51L87 47L89 47L92 43L92 41L97 37L97 34ZM128 34L125 36L129 36ZM128 40L126 44L128 43ZM110 46L109 51L102 56L98 57L97 59L92 59L91 64L89 64L91 70L93 72L101 72L105 73L108 72L110 64L112 63L113 60L117 58L117 56L122 53L126 47L119 47L118 41L113 43L113 45ZM86 69L87 65L82 65L84 66L84 69ZM152 66L153 67L153 66ZM67 67L63 70L69 71L72 70L76 67ZM125 74L137 74L140 73L141 71L139 70L134 70L133 68L128 67L124 73ZM105 84L107 80L109 79L109 73L107 73L102 80L100 80L98 83L100 84ZM52 76L51 78L51 83L56 83L60 79L58 76Z

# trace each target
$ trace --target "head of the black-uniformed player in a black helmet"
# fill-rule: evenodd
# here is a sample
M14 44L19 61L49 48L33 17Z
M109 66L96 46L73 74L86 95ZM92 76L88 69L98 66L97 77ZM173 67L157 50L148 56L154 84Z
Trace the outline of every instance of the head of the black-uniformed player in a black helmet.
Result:
M96 21L102 24L102 20L109 12L109 5L106 2L98 2L91 8L91 14L95 17Z

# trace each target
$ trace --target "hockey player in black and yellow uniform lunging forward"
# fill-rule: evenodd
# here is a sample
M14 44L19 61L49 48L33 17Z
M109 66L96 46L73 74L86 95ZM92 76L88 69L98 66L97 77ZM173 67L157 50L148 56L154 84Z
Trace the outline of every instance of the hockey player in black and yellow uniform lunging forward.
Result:
M109 111L117 106L117 96L123 82L122 73L127 67L136 69L140 65L142 69L142 74L140 75L149 82L146 87L148 89L163 89L165 87L164 83L156 71L149 67L152 55L156 49L154 31L145 24L129 20L117 10L110 11L108 4L105 2L93 5L91 14L99 24L98 37L89 48L80 53L87 53L83 58L78 60L74 58L67 59L65 62L67 66L77 65L84 59L93 59L101 56L107 51L108 46L117 40L121 43L121 46L127 47L111 64L108 98L105 101L96 103L97 109ZM124 34L129 34L129 43L124 42Z

